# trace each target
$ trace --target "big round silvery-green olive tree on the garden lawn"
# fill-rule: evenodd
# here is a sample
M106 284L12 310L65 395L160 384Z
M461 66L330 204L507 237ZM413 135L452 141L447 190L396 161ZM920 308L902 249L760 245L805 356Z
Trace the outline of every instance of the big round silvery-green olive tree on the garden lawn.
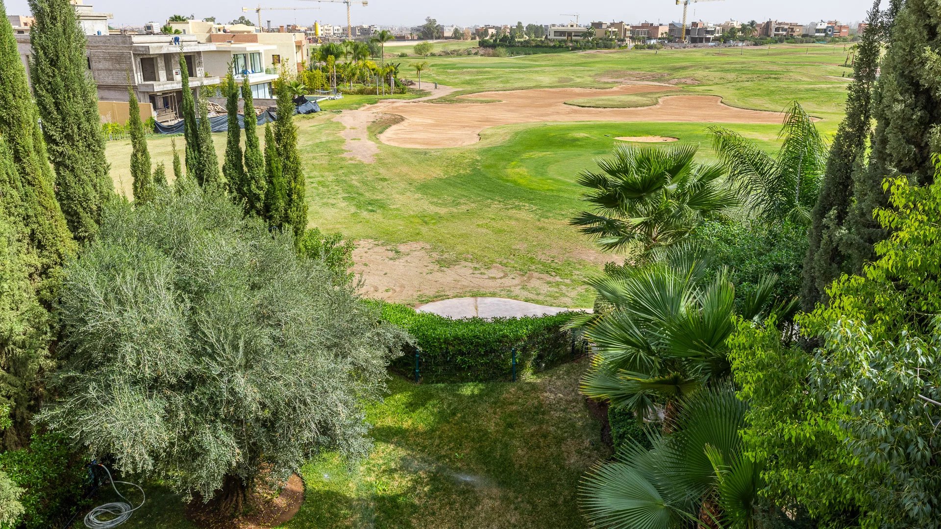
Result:
M366 454L363 407L404 336L293 233L192 179L109 206L101 233L64 270L67 396L40 420L226 513L322 449Z

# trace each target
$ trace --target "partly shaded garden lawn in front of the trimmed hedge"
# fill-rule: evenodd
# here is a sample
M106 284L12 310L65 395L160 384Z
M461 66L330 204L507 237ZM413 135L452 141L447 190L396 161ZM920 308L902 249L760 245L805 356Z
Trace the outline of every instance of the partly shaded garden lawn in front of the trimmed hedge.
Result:
M304 505L283 527L586 527L578 486L610 449L577 392L584 367L517 383L393 377L385 401L367 411L372 454L353 465L333 454L306 465ZM122 527L194 527L178 496L154 485L147 492L148 503Z

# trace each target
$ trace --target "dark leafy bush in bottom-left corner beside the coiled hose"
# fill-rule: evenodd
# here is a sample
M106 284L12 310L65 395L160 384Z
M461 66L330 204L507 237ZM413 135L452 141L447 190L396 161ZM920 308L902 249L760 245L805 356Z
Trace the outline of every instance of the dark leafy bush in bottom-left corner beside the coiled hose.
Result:
M19 525L0 524L2 529L60 525L81 498L86 476L72 445L56 433L34 435L28 448L0 454L0 473L24 489L19 501L25 509Z

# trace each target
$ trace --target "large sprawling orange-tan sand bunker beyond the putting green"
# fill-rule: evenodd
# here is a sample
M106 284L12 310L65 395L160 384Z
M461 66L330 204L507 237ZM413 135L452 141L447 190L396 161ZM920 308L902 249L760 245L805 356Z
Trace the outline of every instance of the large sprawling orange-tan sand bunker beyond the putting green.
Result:
M624 85L616 88L535 88L492 91L461 99L496 103L434 104L388 101L369 107L375 113L405 118L379 138L389 145L412 149L465 147L477 142L484 129L499 125L560 121L679 121L707 123L779 124L779 112L747 110L722 103L716 96L665 96L658 104L638 108L587 108L566 101L645 92L662 92L663 85ZM460 123L456 126L455 123Z

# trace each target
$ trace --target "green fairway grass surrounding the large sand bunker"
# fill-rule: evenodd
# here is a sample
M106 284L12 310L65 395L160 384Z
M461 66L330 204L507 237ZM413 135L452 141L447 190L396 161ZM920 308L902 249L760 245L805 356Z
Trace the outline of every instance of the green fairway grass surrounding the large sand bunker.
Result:
M456 42L455 42L456 44ZM389 51L387 49L387 51ZM781 110L797 99L821 118L818 127L832 135L842 116L845 72L842 46L773 46L766 48L623 51L495 58L433 56L425 77L458 93L514 87L610 87L626 79L673 82L679 90L628 96L586 98L567 102L584 106L653 104L662 93L702 93L727 104ZM412 59L402 59L403 72ZM422 94L409 94L418 97ZM389 99L386 96L385 99ZM342 232L358 241L389 248L382 262L358 254L357 271L394 277L403 271L423 274L412 284L423 289L376 286L379 297L408 304L446 297L515 297L553 306L590 307L593 298L585 278L618 256L606 255L568 226L581 208L578 174L595 168L618 136L672 136L700 146L702 162L713 160L708 122L574 122L525 123L484 130L481 141L455 149L404 149L378 141L376 134L394 117L369 127L368 135L350 139L334 120L341 110L374 104L381 96L346 96L325 102L327 110L298 118L299 148L308 176L311 226ZM444 98L454 101L453 97ZM486 104L480 104L486 112ZM455 122L455 127L461 123ZM778 126L729 124L756 139L766 150L777 145ZM345 157L349 145L375 143L375 161ZM154 163L170 167L170 138L149 138ZM177 138L183 152L183 138ZM215 135L216 151L225 135ZM637 144L634 144L637 145ZM677 145L674 143L673 145ZM346 148L344 148L344 146ZM108 144L111 173L130 190L130 143ZM405 247L403 245L406 245ZM421 245L420 262L397 256L407 245ZM419 270L415 272L415 270ZM434 278L451 273L441 284ZM486 276L486 277L485 277ZM490 281L508 276L519 281ZM375 277L374 277L375 279ZM411 280L409 280L411 281ZM512 283L512 284L511 284Z

